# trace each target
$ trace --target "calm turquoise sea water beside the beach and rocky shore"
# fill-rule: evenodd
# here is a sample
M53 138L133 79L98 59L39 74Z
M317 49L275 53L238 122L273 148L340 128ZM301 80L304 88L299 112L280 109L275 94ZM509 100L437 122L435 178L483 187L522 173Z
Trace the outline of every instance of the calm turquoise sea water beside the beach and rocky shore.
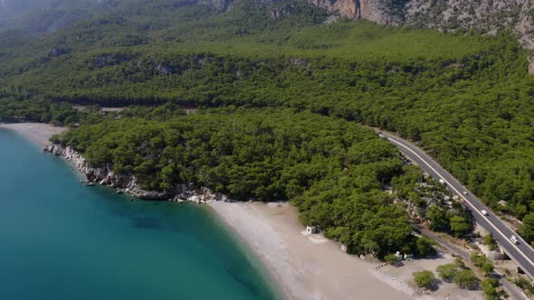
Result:
M87 188L0 129L0 299L274 299L213 212Z

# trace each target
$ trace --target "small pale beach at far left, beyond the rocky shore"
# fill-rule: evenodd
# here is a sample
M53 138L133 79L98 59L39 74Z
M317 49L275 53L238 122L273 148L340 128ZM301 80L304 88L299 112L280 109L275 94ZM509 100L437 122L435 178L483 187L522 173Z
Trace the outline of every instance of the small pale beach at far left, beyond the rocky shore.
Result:
M48 139L51 136L61 134L63 131L68 130L66 127L54 127L50 124L43 123L0 124L0 128L13 130L37 145L46 145L49 143Z

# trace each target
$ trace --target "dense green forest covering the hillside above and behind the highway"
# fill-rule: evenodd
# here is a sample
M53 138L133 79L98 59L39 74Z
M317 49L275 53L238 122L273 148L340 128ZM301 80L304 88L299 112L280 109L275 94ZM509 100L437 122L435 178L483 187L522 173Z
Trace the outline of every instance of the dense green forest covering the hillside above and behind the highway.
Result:
M183 14L177 20L189 15ZM213 17L203 20L226 24L235 15ZM183 20L179 26L200 22ZM0 63L4 74L0 89L3 98L9 99L37 93L54 102L102 106L172 101L188 108L289 107L342 117L419 141L495 209L520 218L531 210L533 82L525 73L524 52L510 37L459 36L370 23L318 25L315 19L291 24L288 20L274 22L269 32L252 23L243 25L251 32L241 36L240 42L234 41L235 33L215 38L215 29L195 36L205 41L198 43L184 33L176 39L188 42L178 41L176 47L159 40L171 34L167 31L132 35L128 33L131 23L126 21L80 23L43 41L67 41L69 51L39 42L24 49L6 47L5 58L25 54L24 59ZM73 38L95 28L102 30L105 39L76 42ZM141 42L123 44L119 41L122 30ZM282 39L287 34L290 38ZM145 38L150 47L143 42ZM102 44L106 39L115 41ZM316 50L313 44L318 41L328 46ZM384 47L384 41L391 45ZM440 48L434 49L435 45ZM429 47L433 50L425 52ZM51 48L63 54L51 57ZM24 61L27 57L33 61ZM14 116L14 112L4 115ZM50 118L43 116L43 120ZM362 157L355 154L353 159ZM500 200L508 205L497 204Z

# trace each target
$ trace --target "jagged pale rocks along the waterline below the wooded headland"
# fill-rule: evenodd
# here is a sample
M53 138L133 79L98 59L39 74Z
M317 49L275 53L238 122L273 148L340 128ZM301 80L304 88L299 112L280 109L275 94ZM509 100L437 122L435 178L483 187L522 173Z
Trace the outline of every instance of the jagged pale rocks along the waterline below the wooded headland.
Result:
M43 151L52 153L53 155L62 156L62 158L69 161L72 166L77 168L87 178L86 184L89 186L96 184L108 185L111 188L118 189L118 192L127 192L130 195L143 200L168 200L196 203L230 201L223 194L214 193L205 187L199 190L190 189L189 186L192 184L178 184L175 188L166 192L144 190L138 184L135 175L113 173L110 165L98 168L92 167L87 164L80 152L74 150L70 146L63 147L62 145L50 144L45 145Z

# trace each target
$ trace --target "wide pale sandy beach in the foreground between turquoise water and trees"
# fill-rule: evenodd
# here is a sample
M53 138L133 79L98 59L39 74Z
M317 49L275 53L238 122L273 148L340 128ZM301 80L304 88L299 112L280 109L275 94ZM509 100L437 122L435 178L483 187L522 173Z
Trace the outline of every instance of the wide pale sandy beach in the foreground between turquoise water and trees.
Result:
M213 202L216 213L253 249L289 299L436 299L419 295L320 234L303 236L288 203ZM453 299L453 298L451 298Z

